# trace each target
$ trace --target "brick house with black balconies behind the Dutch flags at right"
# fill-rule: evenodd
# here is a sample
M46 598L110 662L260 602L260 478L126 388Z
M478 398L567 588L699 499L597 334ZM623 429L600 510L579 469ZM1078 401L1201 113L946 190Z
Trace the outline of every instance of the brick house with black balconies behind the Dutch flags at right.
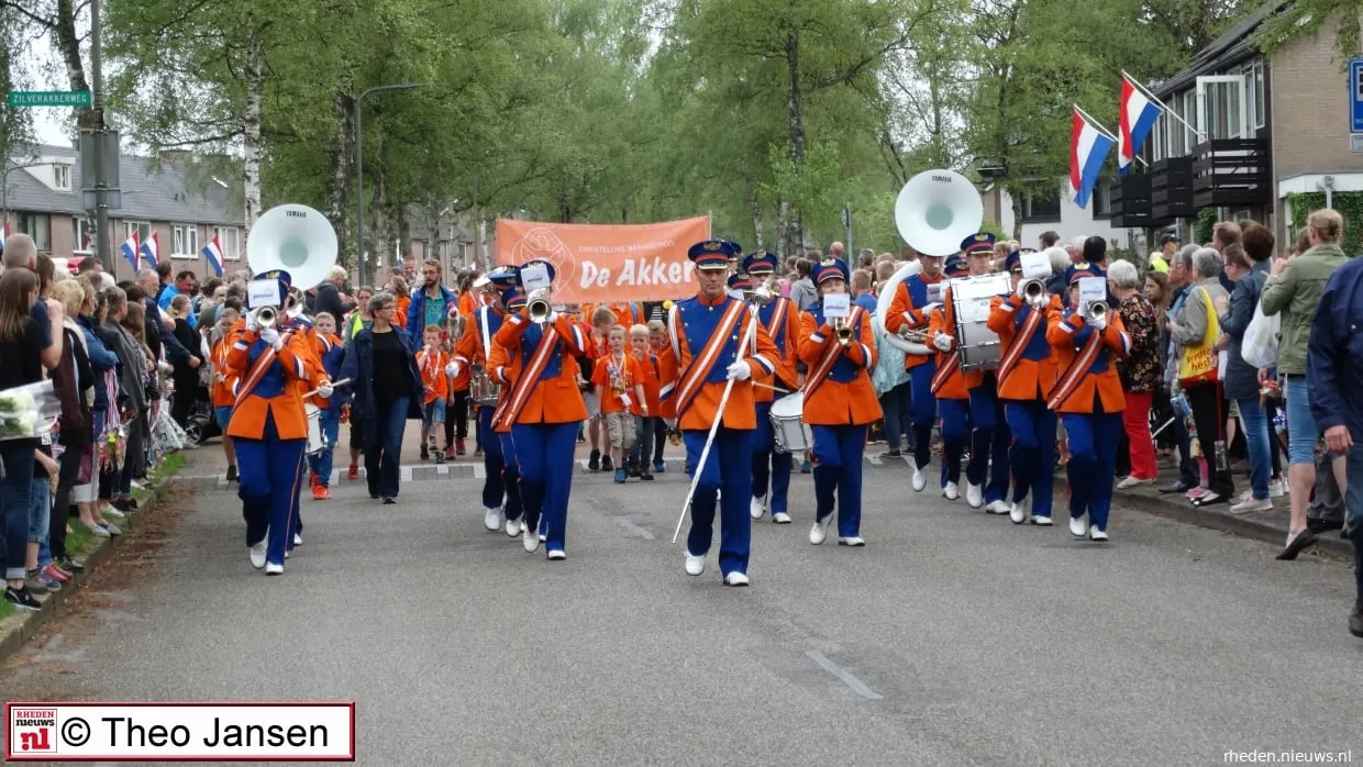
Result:
M1189 125L1161 116L1142 147L1148 169L1112 188L1114 221L1178 226L1187 240L1198 213L1253 218L1289 244L1287 196L1363 191L1363 153L1351 148L1348 72L1336 48L1338 25L1273 53L1254 34L1253 14L1150 90ZM1360 147L1363 148L1363 147Z

